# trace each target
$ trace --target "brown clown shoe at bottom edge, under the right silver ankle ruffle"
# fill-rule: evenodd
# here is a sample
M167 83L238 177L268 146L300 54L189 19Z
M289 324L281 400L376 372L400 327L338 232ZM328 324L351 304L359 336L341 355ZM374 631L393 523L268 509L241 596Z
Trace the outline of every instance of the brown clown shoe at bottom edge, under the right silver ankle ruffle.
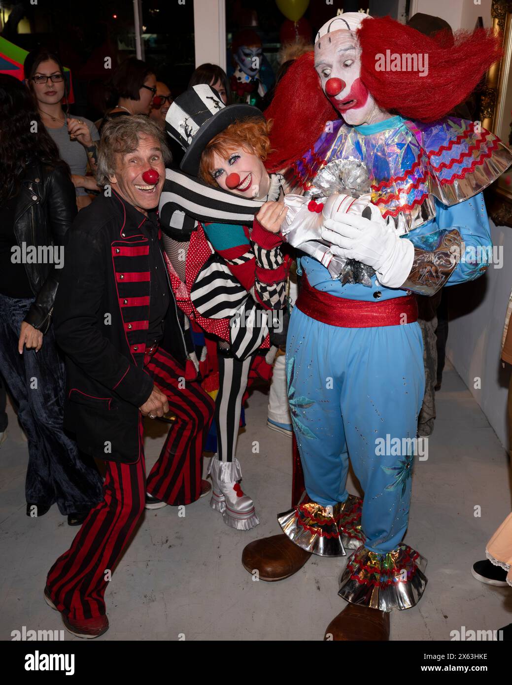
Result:
M324 640L389 640L389 612L348 604L329 623Z

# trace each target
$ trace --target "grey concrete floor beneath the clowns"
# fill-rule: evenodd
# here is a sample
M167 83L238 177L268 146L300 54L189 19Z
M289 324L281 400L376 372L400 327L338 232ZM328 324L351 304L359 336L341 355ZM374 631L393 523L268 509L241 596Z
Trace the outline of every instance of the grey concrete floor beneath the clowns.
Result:
M110 630L99 640L321 640L345 606L337 589L346 558L313 557L277 583L253 582L240 562L251 540L280 532L276 512L289 506L291 440L267 429L266 409L267 397L255 391L238 449L243 487L256 502L260 525L250 532L228 528L207 498L188 506L184 518L171 507L146 512L107 590ZM41 519L25 515L27 444L9 412L8 440L0 448L1 640L23 625L62 628L42 588L75 534L56 506ZM480 584L470 572L511 510L507 454L451 368L437 394L437 416L428 460L415 467L405 538L428 559L429 583L417 607L392 614L391 640L450 640L462 626L493 630L512 621L512 589ZM165 428L151 423L151 430L149 465Z

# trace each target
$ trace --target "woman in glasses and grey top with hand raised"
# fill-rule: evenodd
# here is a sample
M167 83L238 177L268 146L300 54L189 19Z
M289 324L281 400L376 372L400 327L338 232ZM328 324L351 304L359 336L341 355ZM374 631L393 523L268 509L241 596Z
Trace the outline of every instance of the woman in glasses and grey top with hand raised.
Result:
M87 162L96 171L99 133L92 121L69 116L64 69L58 55L34 50L23 64L25 82L36 99L42 123L53 138L60 157L71 169L78 209L92 201L88 190L99 190L93 176L86 175ZM62 101L65 108L62 107Z

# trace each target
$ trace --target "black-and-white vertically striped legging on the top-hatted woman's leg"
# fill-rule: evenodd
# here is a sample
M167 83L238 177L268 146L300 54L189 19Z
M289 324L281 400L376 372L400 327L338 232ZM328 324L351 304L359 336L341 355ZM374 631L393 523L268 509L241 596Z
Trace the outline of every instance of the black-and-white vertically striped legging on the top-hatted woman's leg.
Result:
M215 400L217 426L217 452L219 460L232 462L239 436L242 397L254 354L243 362L217 347L219 362L219 393Z

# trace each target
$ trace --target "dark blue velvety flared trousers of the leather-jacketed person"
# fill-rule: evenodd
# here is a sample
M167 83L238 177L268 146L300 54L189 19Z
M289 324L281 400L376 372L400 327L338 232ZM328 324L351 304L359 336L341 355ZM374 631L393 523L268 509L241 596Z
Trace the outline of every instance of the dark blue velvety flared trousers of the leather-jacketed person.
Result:
M0 372L28 438L27 503L56 502L61 514L87 512L101 501L103 482L94 460L64 433L64 363L53 328L38 352L18 352L21 322L33 301L0 295Z

